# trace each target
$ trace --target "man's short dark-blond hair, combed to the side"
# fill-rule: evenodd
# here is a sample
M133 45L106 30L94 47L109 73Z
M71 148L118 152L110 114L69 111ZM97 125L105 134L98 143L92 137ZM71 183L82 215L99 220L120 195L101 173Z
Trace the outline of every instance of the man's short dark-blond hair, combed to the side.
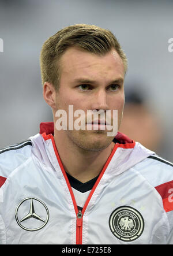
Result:
M111 31L96 25L74 24L61 29L44 42L40 53L42 84L52 83L58 90L61 77L60 58L72 46L97 55L104 55L114 48L123 61L125 74L127 72L126 55Z

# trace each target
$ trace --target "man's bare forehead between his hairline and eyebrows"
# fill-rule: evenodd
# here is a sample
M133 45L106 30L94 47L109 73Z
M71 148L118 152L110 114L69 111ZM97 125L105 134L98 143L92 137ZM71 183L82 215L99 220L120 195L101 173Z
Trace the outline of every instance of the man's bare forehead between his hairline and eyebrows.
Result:
M123 61L115 49L104 55L89 53L77 47L70 47L61 57L61 76L118 76L124 77Z

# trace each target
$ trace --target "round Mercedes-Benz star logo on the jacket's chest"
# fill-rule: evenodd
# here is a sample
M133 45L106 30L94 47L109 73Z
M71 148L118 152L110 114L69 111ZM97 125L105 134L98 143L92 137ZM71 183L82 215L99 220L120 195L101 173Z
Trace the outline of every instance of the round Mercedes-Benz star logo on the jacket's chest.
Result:
M30 201L30 206L29 206L28 201ZM35 204L35 206L37 206L37 209L39 209L39 214L38 214L38 212L37 213L35 212L34 204ZM26 215L24 215L23 212L26 212L26 210L25 210L26 207L29 209L28 209L28 213ZM44 216L44 217L40 217L40 215ZM37 230L43 228L47 224L48 218L49 218L49 212L48 212L47 206L41 200L39 200L37 198L33 198L33 197L28 197L28 198L23 199L18 204L18 206L16 208L16 212L15 212L15 217L16 217L17 224L21 228L23 228L27 231L37 231ZM37 221L35 221L35 222L27 221L30 218L36 219ZM22 224L21 224L21 222L22 222ZM40 225L40 222L43 222L43 224ZM30 228L28 227L29 225L31 225ZM35 228L33 228L33 227L35 227Z

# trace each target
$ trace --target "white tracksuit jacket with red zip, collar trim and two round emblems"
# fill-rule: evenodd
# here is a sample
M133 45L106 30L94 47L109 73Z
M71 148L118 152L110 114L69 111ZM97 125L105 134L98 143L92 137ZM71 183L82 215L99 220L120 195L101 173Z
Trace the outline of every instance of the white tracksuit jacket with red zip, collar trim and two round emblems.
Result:
M50 127L0 150L0 244L173 244L170 162L118 133L78 212Z

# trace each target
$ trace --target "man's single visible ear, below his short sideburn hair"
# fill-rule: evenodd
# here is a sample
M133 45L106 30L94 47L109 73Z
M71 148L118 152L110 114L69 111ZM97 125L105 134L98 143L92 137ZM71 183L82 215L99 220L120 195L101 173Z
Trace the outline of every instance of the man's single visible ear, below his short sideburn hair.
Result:
M48 83L48 82L44 83L43 98L52 109L56 108L56 102L55 102L56 90L51 83Z

